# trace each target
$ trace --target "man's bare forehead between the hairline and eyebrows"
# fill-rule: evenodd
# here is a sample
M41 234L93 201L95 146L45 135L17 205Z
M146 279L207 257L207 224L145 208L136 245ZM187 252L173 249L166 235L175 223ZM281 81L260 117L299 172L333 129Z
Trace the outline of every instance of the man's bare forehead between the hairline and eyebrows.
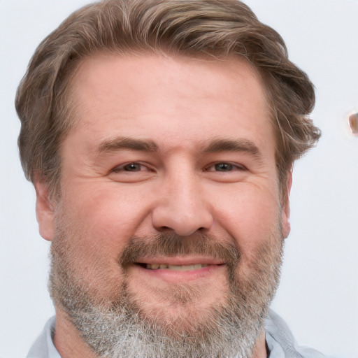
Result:
M164 140L163 134L188 145L208 136L273 139L262 78L236 57L97 54L83 60L71 85L72 132L97 141L117 135Z

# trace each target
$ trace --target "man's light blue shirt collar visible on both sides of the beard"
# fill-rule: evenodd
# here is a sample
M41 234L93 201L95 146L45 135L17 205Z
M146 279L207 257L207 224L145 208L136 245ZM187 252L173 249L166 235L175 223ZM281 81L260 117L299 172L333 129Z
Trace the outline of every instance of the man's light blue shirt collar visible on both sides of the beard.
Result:
M55 317L48 320L27 358L61 358L52 341L55 322ZM317 350L299 347L287 324L273 310L269 311L266 319L266 343L270 351L268 358L324 358Z

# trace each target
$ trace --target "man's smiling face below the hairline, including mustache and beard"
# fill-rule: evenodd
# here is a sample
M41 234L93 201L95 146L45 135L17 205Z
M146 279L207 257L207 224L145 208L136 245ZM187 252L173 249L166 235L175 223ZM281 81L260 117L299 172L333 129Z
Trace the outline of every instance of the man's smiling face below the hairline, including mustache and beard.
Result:
M181 345L227 324L235 341L251 335L250 357L289 231L257 72L240 59L97 55L73 103L61 198L47 210L38 199L57 308L80 331L81 312L115 312L125 319L109 330L135 317L133 331Z

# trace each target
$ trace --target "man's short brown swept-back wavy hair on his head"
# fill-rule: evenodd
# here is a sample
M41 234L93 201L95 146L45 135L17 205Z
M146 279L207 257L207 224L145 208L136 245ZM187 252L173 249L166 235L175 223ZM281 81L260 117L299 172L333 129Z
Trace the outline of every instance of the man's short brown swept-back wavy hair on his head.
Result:
M308 118L315 103L308 76L289 61L281 36L241 1L105 0L80 8L43 40L17 90L25 176L41 178L52 194L59 147L71 127L71 76L81 59L103 51L247 59L261 73L271 104L281 187L294 160L320 137Z

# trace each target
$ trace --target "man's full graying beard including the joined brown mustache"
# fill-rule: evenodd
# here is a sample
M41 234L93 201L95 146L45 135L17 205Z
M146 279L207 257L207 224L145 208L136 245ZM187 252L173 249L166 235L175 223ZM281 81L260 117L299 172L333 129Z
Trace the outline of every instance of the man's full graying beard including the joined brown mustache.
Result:
M242 272L236 248L222 248L224 253L219 256L230 262L227 269L229 292L225 299L197 313L193 303L195 292L183 288L177 296L177 304L185 305L187 315L170 321L162 320L160 313L156 319L145 315L141 302L128 289L126 279L118 288L115 301L93 299L88 287L73 273L66 257L69 240L62 231L52 241L50 294L55 305L64 310L80 337L99 357L251 358L278 287L282 242L282 238L275 237L263 241L255 260L250 262L249 272ZM206 236L190 244L182 243L185 243L182 238L166 234L152 240L134 238L129 250L118 259L124 277L127 264L148 250L167 255L187 252L215 255L220 251L217 244L211 244L215 239Z

